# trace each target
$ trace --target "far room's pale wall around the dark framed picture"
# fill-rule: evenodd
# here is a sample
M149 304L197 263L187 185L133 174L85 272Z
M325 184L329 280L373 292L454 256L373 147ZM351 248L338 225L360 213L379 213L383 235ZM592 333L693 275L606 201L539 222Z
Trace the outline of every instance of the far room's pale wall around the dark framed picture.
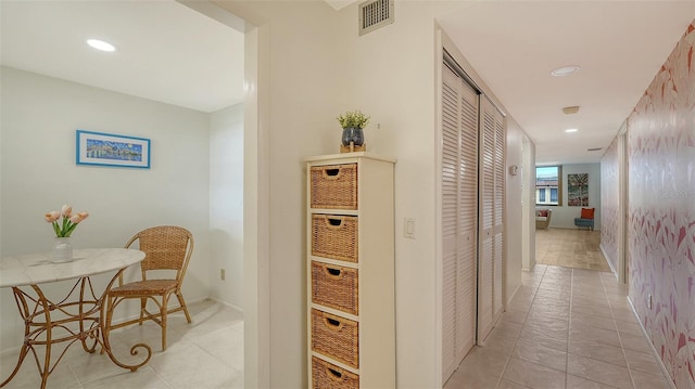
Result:
M577 229L574 218L579 218L582 207L567 206L567 174L589 173L589 207L596 208L594 211L594 230L601 230L601 164L569 164L563 165L563 206L536 208L552 208L551 228L554 229Z

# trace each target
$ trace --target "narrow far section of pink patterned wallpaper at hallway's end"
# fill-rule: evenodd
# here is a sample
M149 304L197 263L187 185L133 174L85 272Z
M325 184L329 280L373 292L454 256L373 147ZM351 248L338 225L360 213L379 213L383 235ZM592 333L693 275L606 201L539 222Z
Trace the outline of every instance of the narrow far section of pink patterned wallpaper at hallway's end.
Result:
M618 138L601 158L601 248L612 269L618 269L619 171Z

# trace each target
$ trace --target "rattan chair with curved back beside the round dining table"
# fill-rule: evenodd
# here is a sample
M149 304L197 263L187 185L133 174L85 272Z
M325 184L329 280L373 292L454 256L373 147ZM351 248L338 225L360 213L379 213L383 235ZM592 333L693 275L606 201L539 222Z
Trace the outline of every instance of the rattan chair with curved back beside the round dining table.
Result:
M108 336L112 329L135 323L142 325L144 320L152 320L162 327L162 351L164 351L166 350L166 315L184 311L188 323L191 322L181 294L181 284L193 251L193 236L184 228L161 225L138 232L128 241L126 248L129 248L136 241L138 241L139 249L146 254L144 260L140 263L142 281L124 285L122 275L118 280L119 286L109 290L104 332ZM165 270L169 273L176 272L176 276L160 278L159 276ZM152 273L155 273L157 278L149 280L148 274ZM178 307L168 307L172 295L178 299ZM114 309L127 299L140 299L140 317L112 325ZM154 301L159 309L157 313L151 313L147 310L148 300Z

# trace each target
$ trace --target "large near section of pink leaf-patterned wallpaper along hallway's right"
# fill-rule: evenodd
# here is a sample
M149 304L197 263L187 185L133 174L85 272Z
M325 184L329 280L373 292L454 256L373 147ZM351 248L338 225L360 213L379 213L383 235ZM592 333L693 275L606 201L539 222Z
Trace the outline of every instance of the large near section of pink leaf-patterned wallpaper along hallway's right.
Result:
M678 388L695 388L694 42L695 22L628 118L630 297Z

